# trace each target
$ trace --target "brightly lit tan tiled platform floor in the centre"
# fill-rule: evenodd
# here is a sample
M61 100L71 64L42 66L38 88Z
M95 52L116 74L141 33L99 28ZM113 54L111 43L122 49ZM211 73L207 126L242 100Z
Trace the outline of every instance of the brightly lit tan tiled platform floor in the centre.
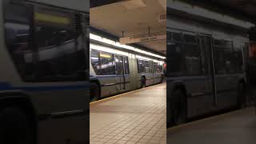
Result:
M92 104L90 143L166 144L166 83Z

